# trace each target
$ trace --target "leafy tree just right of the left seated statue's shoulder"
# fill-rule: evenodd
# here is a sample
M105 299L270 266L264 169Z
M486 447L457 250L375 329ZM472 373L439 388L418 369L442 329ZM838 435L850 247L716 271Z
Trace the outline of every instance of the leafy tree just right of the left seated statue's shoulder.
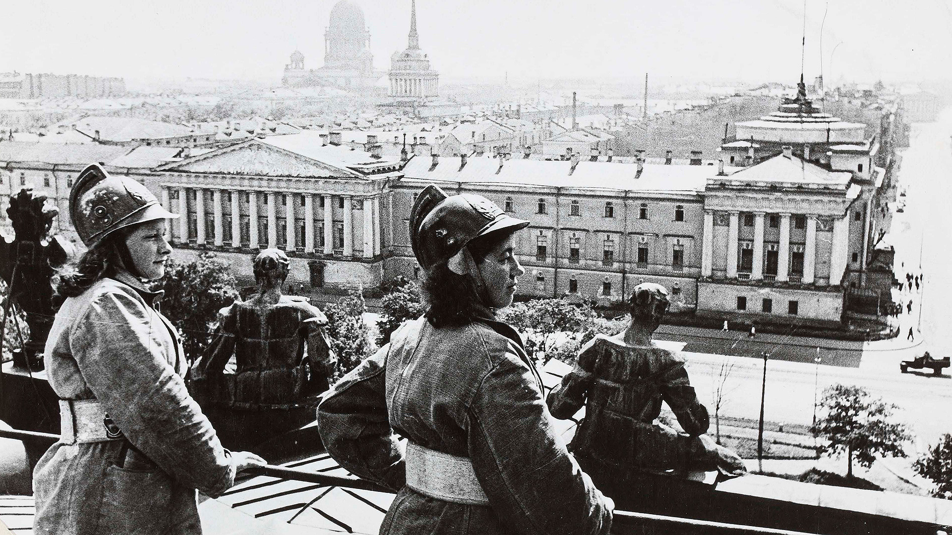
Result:
M334 380L340 379L357 367L373 350L367 339L367 324L364 312L367 306L360 290L353 291L324 308L327 315L327 336L330 347L337 354L337 372Z

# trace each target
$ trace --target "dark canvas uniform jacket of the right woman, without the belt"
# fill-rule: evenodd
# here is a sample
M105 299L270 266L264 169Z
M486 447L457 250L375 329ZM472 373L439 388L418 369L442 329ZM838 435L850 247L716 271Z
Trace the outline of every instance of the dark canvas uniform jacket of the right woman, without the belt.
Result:
M420 318L394 332L318 406L327 451L398 491L381 533L608 533L612 513L554 431L522 340L489 310L483 316L441 328ZM468 458L490 505L408 488L394 432Z

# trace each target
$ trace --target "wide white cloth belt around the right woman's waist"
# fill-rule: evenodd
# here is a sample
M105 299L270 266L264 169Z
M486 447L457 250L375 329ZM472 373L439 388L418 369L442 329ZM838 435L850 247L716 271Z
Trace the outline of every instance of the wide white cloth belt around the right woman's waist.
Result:
M407 486L431 498L466 505L489 505L466 457L407 443Z

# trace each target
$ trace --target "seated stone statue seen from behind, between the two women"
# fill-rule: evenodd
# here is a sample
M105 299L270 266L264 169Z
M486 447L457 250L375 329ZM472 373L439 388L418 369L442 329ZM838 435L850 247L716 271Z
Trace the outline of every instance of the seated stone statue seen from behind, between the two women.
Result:
M288 277L284 251L262 250L253 268L257 292L221 310L218 332L189 380L215 428L226 427L220 431L223 443L232 442L233 434L243 447L312 421L337 362L324 330L327 316L305 297L282 294ZM257 417L243 414L236 421L239 412Z

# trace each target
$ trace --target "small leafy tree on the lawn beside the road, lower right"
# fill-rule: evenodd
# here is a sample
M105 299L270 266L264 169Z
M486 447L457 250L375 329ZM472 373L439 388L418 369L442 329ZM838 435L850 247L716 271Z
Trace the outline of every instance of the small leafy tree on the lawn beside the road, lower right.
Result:
M905 457L902 443L912 437L906 426L892 422L898 406L874 399L860 386L833 385L823 390L820 402L823 417L813 426L813 434L827 444L820 453L846 451L846 477L853 475L853 457L869 467L876 455Z

